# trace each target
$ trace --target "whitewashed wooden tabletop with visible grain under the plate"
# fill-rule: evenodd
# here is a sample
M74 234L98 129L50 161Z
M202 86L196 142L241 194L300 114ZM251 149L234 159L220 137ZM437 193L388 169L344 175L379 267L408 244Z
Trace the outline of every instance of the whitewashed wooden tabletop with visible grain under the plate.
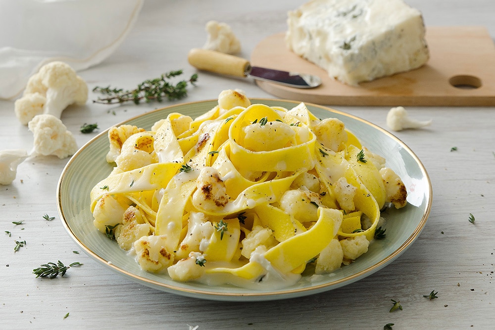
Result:
M266 36L286 29L286 12L303 1L145 2L133 31L100 65L79 74L94 86L131 88L162 72L184 69L187 52L202 47L205 23L226 22L241 40L242 56ZM482 25L495 36L493 0L409 0L427 26ZM214 99L240 88L250 97L272 97L250 80L201 73L183 101ZM97 95L90 92L90 100ZM78 145L83 123L105 129L174 102L120 107L70 107L62 120ZM177 103L177 102L176 102ZM400 104L397 104L400 105ZM390 107L338 109L387 128ZM421 159L432 181L430 218L415 243L396 261L356 283L290 300L232 303L185 298L131 282L85 254L63 229L55 189L68 159L39 157L22 163L10 186L0 186L0 329L156 328L189 329L493 329L495 327L495 107L409 107L422 130L396 133ZM114 112L114 113L112 113ZM18 123L13 101L0 101L1 148L30 150L32 134ZM451 147L456 151L450 151ZM475 224L468 221L469 213ZM46 221L43 215L56 219ZM23 221L21 225L13 221ZM9 237L4 231L10 231ZM14 253L15 240L26 245ZM49 261L84 265L63 278L36 279L33 268ZM431 290L438 299L423 297ZM389 313L391 299L403 310ZM64 316L69 316L64 319Z

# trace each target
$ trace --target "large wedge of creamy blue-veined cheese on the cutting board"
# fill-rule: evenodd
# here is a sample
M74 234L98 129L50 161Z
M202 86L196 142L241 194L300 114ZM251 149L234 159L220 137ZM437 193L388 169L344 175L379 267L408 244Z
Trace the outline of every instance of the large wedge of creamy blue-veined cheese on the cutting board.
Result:
M312 0L288 13L286 44L346 84L428 61L421 12L402 0Z

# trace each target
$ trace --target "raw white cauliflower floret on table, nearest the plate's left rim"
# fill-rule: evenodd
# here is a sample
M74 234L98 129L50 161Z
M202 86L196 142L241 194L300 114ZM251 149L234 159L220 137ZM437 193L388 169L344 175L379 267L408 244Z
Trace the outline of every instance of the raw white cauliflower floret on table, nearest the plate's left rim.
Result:
M60 119L53 115L35 116L28 123L34 135L33 155L55 155L66 158L77 151L76 139Z

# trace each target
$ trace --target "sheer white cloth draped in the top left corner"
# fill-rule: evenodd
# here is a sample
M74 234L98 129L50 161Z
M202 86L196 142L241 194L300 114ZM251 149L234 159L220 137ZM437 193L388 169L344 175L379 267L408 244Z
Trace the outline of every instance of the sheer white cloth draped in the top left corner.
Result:
M51 61L84 70L108 57L144 0L0 0L0 98L20 94Z

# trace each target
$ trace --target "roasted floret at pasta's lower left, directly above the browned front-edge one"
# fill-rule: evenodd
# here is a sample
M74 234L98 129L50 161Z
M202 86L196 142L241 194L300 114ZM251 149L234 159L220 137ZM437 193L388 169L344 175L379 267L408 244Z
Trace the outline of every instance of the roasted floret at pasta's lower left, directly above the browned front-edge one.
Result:
M115 238L120 248L130 250L136 240L149 235L149 230L143 214L134 206L129 206L122 217L122 226L115 228Z

